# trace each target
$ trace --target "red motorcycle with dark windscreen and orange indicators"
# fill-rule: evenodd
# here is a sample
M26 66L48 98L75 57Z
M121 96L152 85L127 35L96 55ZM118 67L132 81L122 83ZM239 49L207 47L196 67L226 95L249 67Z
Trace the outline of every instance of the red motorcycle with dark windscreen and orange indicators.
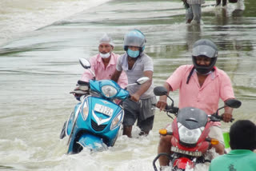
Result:
M166 88L162 86L155 87L154 94L169 97ZM175 115L172 123L172 132L168 132L166 129L160 129L159 133L161 135L172 135L170 141L171 153L159 153L153 161L154 170L158 171L155 162L161 156L166 156L170 159L172 171L194 169L194 166L198 163L210 162L204 154L210 149L211 145L218 144L217 139L208 137L210 126L215 121L222 121L222 117L218 115L218 110L226 106L238 108L242 104L241 101L230 99L226 101L224 106L217 109L215 113L207 115L202 109L194 107L178 109L174 107L173 99L171 97L169 98L172 104L167 105L165 111L169 117L171 117L169 113L174 113Z

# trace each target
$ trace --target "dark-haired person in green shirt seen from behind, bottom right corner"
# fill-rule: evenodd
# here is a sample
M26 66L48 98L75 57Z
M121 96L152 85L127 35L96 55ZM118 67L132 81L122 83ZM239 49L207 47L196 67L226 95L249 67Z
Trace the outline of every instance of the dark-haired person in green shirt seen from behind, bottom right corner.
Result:
M230 127L230 153L214 158L209 171L255 171L256 125L252 121L236 121Z

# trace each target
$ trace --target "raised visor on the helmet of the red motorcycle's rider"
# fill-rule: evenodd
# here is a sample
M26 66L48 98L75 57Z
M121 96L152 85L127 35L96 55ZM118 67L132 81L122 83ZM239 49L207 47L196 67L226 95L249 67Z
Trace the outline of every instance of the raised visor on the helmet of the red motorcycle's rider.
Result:
M204 55L208 58L215 58L216 57L216 50L210 46L206 45L200 45L200 46L195 46L192 50L192 56L197 57L200 55Z

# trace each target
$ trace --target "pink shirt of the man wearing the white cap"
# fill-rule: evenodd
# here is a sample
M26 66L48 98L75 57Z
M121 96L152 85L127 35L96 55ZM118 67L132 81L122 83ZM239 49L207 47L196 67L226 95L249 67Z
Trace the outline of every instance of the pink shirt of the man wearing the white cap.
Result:
M111 53L110 63L106 66L106 68L99 54L90 58L90 65L91 65L90 69L94 71L94 74L96 75L96 80L110 79L116 69L118 58L119 58L118 54ZM89 82L89 80L92 78L93 78L93 74L91 74L89 70L86 70L84 74L82 74L81 79L82 81ZM128 84L128 81L127 81L126 74L122 72L122 74L120 75L120 78L118 79L118 85L120 85L122 88L125 88L127 84Z

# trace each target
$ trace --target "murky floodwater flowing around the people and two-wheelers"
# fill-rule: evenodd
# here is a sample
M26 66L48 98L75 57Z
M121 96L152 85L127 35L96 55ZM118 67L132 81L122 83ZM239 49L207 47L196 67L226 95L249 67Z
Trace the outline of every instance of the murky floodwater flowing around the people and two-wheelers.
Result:
M185 10L178 0L95 1L94 6L90 6L94 1L66 0L62 9L56 0L45 1L44 6L26 2L30 6L22 12L0 10L0 26L7 28L0 39L0 170L154 170L158 129L171 121L165 113L157 111L148 137L138 137L134 127L133 138L120 134L114 147L101 153L83 150L66 155L66 139L59 139L62 124L77 102L69 92L83 72L78 58L96 54L104 32L114 39L116 54L124 53L123 35L128 30L137 28L146 34L155 85L162 85L178 66L191 63L196 40L212 39L220 50L217 66L230 76L235 96L242 101L241 108L234 109L234 118L256 122L254 0L226 8L206 1L202 26L185 24ZM29 14L36 19L27 18ZM170 95L178 101L178 92ZM223 131L229 127L230 123L222 124Z

